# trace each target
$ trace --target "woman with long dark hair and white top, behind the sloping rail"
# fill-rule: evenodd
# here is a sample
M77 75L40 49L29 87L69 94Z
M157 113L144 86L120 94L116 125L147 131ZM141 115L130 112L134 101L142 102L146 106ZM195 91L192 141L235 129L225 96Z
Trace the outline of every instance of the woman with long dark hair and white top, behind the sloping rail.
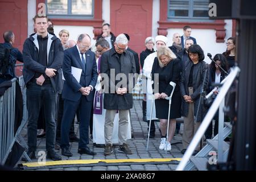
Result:
M220 53L215 55L213 57L213 60L217 63L210 63L210 75L209 75L209 92L214 89L214 86L211 86L212 83L220 83L224 78L228 75L226 75L225 72L228 72L228 61L226 61L226 57ZM221 69L224 69L224 71ZM219 89L216 88L217 90L213 92L212 98L213 100L217 97L217 94L219 92ZM214 115L213 119L215 120L214 124L214 136L218 134L218 111ZM211 139L212 138L212 122L210 123L207 131L205 131L205 138L206 139Z

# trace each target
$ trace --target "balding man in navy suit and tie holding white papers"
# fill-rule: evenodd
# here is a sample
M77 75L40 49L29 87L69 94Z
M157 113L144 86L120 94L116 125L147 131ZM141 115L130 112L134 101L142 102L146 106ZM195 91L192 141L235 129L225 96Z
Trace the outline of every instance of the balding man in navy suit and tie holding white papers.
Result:
M76 46L69 48L64 53L63 85L62 97L64 100L64 114L61 122L61 154L72 156L69 151L69 130L72 119L75 117L76 110L79 109L80 115L80 141L79 154L96 155L89 149L89 120L93 104L94 86L97 82L97 65L95 55L89 50L91 46L90 36L87 34L79 35ZM80 81L73 76L72 68L82 69Z

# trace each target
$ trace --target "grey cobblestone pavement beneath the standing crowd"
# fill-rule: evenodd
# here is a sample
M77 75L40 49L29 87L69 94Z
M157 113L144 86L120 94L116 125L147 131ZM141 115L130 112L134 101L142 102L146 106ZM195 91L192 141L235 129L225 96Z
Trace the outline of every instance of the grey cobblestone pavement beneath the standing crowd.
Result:
M61 155L61 150L56 150L57 154L61 155L63 160L79 160L79 159L150 159L150 158L182 158L183 154L181 154L182 143L181 143L181 134L177 134L174 136L172 140L172 150L170 152L159 150L159 142L160 142L160 132L159 132L159 122L155 122L156 124L156 132L155 138L149 140L148 151L146 150L147 146L147 122L142 121L142 101L134 100L133 109L131 112L131 133L132 137L130 140L127 140L127 144L130 146L133 154L126 155L118 152L118 146L114 146L114 154L105 156L104 148L96 147L93 145L93 142L90 141L88 147L93 151L97 152L97 155L80 155L77 153L78 143L71 143L71 152L73 156L68 158L67 156ZM75 122L76 123L76 122ZM75 131L77 130L78 125L75 124ZM182 133L183 127L181 125L180 133ZM22 133L24 139L26 140L26 129L24 129ZM77 136L79 134L77 133ZM46 150L46 139L38 138L38 147L36 154L39 151ZM32 160L32 162L37 162L38 159ZM47 161L51 161L48 160ZM23 162L19 162L23 163ZM61 168L43 168L36 170L44 170L44 171L131 171L131 170L139 170L139 171L170 171L174 170L177 167L177 163L175 164L129 164L126 166L88 166L88 167L61 167Z

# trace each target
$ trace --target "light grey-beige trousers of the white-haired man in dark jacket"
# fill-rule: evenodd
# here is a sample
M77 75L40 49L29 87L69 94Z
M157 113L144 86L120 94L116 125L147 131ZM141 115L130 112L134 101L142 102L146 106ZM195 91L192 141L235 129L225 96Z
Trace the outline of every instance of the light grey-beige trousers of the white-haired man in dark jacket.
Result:
M106 110L105 125L104 125L104 137L105 137L106 144L107 143L112 144L114 117L116 113L117 113L117 110ZM119 145L122 145L123 143L126 143L126 139L127 139L129 109L118 110L118 113L119 113L118 143Z

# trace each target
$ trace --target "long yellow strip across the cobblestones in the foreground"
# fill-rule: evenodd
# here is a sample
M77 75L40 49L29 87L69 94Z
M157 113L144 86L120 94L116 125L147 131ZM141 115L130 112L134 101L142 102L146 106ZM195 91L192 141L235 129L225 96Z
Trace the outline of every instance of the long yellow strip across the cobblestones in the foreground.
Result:
M172 160L181 161L182 158L153 158L153 159L87 159L87 160L57 160L46 162L33 162L22 163L27 167L42 167L42 166L59 166L59 165L72 165L72 164L96 164L99 162L105 163L141 163L141 162L170 162Z

